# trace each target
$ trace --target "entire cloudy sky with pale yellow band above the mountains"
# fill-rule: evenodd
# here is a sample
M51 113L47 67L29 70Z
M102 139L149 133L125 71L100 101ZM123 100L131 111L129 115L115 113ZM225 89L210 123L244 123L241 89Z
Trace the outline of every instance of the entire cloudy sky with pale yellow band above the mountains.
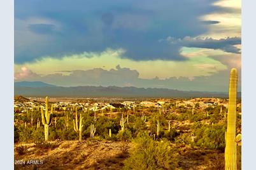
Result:
M241 91L241 0L15 0L14 29L16 82Z

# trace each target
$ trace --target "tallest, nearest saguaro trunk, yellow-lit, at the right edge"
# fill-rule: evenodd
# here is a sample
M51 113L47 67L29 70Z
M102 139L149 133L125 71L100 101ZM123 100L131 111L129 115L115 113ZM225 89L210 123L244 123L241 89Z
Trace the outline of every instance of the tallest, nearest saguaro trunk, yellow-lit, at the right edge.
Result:
M225 169L236 170L236 93L238 71L231 69L229 80L229 110L227 111L227 133L225 146Z

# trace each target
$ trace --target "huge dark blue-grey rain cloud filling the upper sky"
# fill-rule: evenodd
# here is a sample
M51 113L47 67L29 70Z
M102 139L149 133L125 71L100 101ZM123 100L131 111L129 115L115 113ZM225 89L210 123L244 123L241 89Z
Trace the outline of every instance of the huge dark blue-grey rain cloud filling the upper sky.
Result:
M215 1L15 1L15 19L28 28L15 32L15 63L106 48L125 49L124 57L132 60L185 60L180 44L170 46L159 39L206 33L208 24L217 21L202 22L200 16L225 10L213 6ZM53 23L27 23L30 18ZM27 31L32 35L25 35ZM231 46L225 50L236 51Z

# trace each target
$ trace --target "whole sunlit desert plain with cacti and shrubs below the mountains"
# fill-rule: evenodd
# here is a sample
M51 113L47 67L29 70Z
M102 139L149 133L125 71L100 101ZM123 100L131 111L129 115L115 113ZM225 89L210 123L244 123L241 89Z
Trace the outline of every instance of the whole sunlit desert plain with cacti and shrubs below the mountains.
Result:
M48 97L30 109L16 107L15 169L241 169L235 92L229 108L221 98L152 98L96 109L95 100L84 105Z

